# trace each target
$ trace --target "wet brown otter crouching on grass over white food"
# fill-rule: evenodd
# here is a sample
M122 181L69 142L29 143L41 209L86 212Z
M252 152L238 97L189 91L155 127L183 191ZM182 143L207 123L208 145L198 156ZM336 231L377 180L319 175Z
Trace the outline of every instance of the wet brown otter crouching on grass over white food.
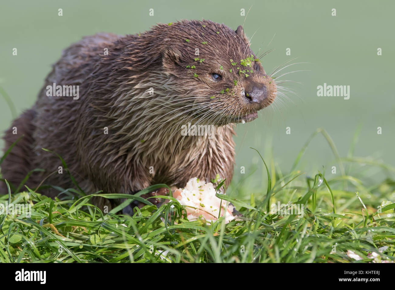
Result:
M65 86L79 96L65 95ZM217 174L227 186L235 124L257 118L275 97L276 84L242 26L183 20L142 34L84 37L63 52L36 103L6 131L6 150L18 142L2 175L18 185L41 168L26 185L50 185L41 193L53 198L59 187L76 187L58 172L60 156L85 193L183 187L192 177L210 181ZM188 123L213 126L214 134L184 134ZM0 193L7 192L2 184ZM94 202L112 208L120 201Z

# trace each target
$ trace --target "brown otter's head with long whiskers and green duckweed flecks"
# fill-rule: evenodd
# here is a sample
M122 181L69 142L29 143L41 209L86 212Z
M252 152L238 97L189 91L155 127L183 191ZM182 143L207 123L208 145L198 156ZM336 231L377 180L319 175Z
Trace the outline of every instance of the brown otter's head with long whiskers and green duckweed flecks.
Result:
M276 84L242 26L234 31L211 21L181 21L167 28L164 40L171 45L161 49L162 65L177 77L186 116L213 125L249 122L275 99Z

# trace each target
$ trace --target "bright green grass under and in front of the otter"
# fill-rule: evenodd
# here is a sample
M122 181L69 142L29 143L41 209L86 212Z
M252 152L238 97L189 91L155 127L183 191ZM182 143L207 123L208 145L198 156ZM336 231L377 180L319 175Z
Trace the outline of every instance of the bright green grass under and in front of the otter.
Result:
M317 171L314 177L308 177L297 170L317 134L328 141L340 176ZM163 185L154 185L137 196L103 195L129 199L106 214L90 204L90 199L100 193L83 195L74 191L75 196L52 200L24 188L23 192L2 195L3 203L31 204L32 215L0 215L0 261L393 262L395 203L390 200L395 197L395 181L384 176L393 174L395 168L353 157L354 145L342 159L329 135L318 129L302 148L290 173L283 175L273 160L267 167L262 158L267 188L258 197L248 193L247 181L237 185L237 196L248 198L226 197L243 214L228 224L223 218L211 225L203 220L188 221L185 210L171 197L160 208L150 204L135 208L132 217L115 214L133 199L142 200L139 194ZM343 163L352 163L355 174ZM365 168L379 168L382 180L364 181ZM303 214L271 213L271 206L280 200L303 205ZM350 257L348 251L361 259ZM372 253L378 255L374 260Z

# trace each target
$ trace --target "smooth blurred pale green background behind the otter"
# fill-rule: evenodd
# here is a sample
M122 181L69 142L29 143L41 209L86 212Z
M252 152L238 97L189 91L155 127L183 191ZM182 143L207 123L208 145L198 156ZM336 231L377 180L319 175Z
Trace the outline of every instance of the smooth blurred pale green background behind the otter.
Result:
M246 13L252 6L248 17ZM63 16L58 16L58 8ZM149 16L149 9L154 16ZM331 16L335 8L337 16ZM288 94L281 107L268 107L254 122L239 124L234 181L248 178L250 190L265 183L260 150L288 172L308 137L323 127L333 138L340 156L346 157L353 135L360 126L354 155L372 157L395 165L393 79L395 37L394 1L2 1L0 6L0 86L8 93L20 114L36 100L43 81L63 49L82 36L97 32L135 34L157 22L181 19L209 19L252 37L251 48L269 49L263 59L267 72L291 58L296 64L282 72L308 70L282 77L297 95ZM12 55L17 48L17 56ZM377 49L382 48L382 56ZM286 55L286 48L291 55ZM349 85L350 99L317 97L317 86ZM0 131L13 116L0 98ZM286 127L291 134L286 135ZM382 127L382 135L377 134ZM0 146L3 147L1 141ZM323 166L337 165L324 137L318 135L307 148L299 169L314 175ZM240 174L240 167L246 174ZM375 174L377 170L372 170ZM340 174L339 168L337 174ZM263 178L262 178L263 176Z

